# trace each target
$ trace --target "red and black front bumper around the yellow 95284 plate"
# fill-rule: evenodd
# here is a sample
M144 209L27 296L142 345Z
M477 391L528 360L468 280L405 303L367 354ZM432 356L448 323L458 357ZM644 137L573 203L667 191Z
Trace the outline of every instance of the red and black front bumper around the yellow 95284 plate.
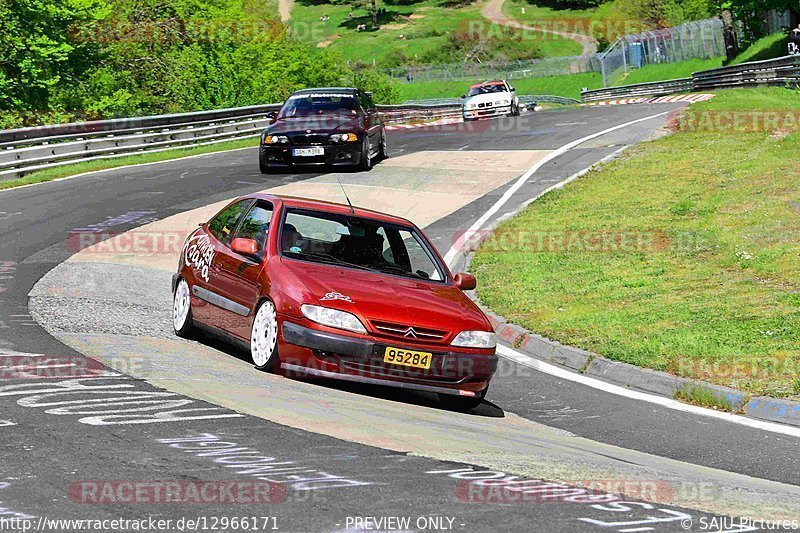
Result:
M283 322L280 333L281 368L290 375L475 396L489 386L497 370L494 353L460 352L450 346L403 346L401 341L341 335L288 320ZM430 368L385 363L387 347L432 353Z

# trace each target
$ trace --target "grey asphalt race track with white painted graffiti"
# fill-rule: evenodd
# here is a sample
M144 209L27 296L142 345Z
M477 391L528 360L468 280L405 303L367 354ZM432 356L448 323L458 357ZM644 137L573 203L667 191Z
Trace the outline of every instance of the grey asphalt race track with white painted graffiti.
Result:
M373 199L386 201L388 206L396 198L397 191L388 192L397 184L393 180L405 180L404 187L414 183L412 192L428 203L412 218L423 219L421 224L444 253L455 235L505 193L515 174L522 174L514 165L498 170L498 160L516 157L521 164L527 156L520 152L536 151L541 156L594 132L678 108L570 109L487 121L468 129L453 125L392 132L390 162L402 162L404 157L418 162L419 154L435 151L433 160L411 170L395 164L391 172L387 162L369 175L344 177L348 187L356 190L358 180L365 188L366 183L374 187L375 180L385 176L387 191ZM508 215L547 187L620 148L648 138L666 118L617 130L546 164L493 219ZM488 166L461 171L453 163L458 161L454 152L471 152L478 158L476 164L482 161ZM500 153L499 157L492 157L491 152ZM800 454L796 438L643 404L511 362L503 364L488 401L466 415L442 410L425 395L263 376L255 373L241 354L213 339L183 345L183 351L196 358L188 363L176 361L164 357L172 355L174 341L160 337L159 320L162 328L168 326L167 316L158 315L158 299L163 296L154 289L163 287L161 274L136 265L124 271L102 271L100 266L95 268L105 272L106 278L98 276L89 283L80 277L83 271L75 270L74 263L62 265L74 253L68 237L78 228L101 224L113 231L127 231L240 194L278 187L308 186L307 190L316 194L333 194L325 175L262 176L254 161L255 149L246 149L0 192L0 349L9 354L80 360L79 352L48 334L38 320L62 338L71 334L70 344L82 346L92 355L97 355L92 350L102 344L97 340L102 340L102 335L122 335L130 344L115 344L116 353L136 353L135 361L144 365L120 368L106 360L123 372L79 382L87 389L77 390L74 381L27 376L0 361L4 367L0 381L0 432L4 434L0 507L48 518L275 516L278 528L287 531L365 529L363 522L354 520L363 516L411 517L412 524L406 529L413 530L431 525L417 523L420 517L447 517L452 523L445 520L440 525L463 531L682 530L687 516L693 520L690 527L701 530L700 519L705 515L696 509L764 518L797 516ZM452 172L444 174L467 179L459 184L448 182L447 176L436 173L440 161L450 162ZM437 202L437 191L425 189L428 175L441 178L442 185L456 195L463 193L461 201L453 205ZM491 175L500 175L503 183L491 181ZM481 188L487 181L491 190ZM401 195L407 192L401 191ZM430 215L436 209L441 216L438 212ZM45 277L51 270L57 275ZM115 278L120 272L129 276ZM29 310L29 293L40 280ZM97 287L103 289L104 282L109 284L112 309L119 301L115 298L124 295L133 295L133 301L138 295L158 305L141 317L137 313L146 305L114 309L118 320L109 321L98 311L109 309L98 304L102 298ZM66 292L48 293L48 289ZM166 298L168 301L169 296ZM69 312L60 312L61 304ZM94 340L86 342L85 338ZM121 337L111 338L119 341ZM2 359L21 360L13 355ZM134 359L120 360L130 364ZM211 380L217 382L216 388L208 379L192 385L191 380L177 375L185 369L185 374L192 376L197 372L193 365L202 370L206 363L212 371L219 371ZM225 380L234 380L242 393ZM262 385L266 392L259 396ZM109 388L99 389L101 386ZM153 395L176 390L174 396ZM155 423L145 415L114 418L119 412L117 404L126 398L133 401L137 394L140 401L158 398L174 401L180 409L202 410L184 411ZM90 408L92 399L94 409ZM204 434L207 436L200 437ZM289 487L287 497L254 511L253 504L87 504L74 491L70 493L70 487L85 481L248 479L240 470L215 462L219 455L198 456L205 449L199 445L192 451L160 442L186 436L194 436L195 443L202 442L208 449L227 446L215 444L223 441L258 450L262 452L259 456L274 457L279 463L291 462L284 468L297 470L276 470L275 474L277 481ZM487 467L493 470L468 473L468 469ZM450 472L429 473L440 471ZM499 472L531 480L555 479L571 486L588 479L601 489L613 488L617 481L636 480L629 495L636 499L639 491L642 494L638 496L660 503L649 507L644 503L591 505L554 495L542 497L541 493L535 497L533 490L529 491L533 497L524 503L502 498L487 503L465 496L466 479L497 477ZM292 475L298 477L290 478ZM314 481L301 481L302 476ZM652 491L643 490L645 483L655 484L659 494L654 497ZM534 481L529 484L535 485ZM391 524L372 529L393 529L387 526Z

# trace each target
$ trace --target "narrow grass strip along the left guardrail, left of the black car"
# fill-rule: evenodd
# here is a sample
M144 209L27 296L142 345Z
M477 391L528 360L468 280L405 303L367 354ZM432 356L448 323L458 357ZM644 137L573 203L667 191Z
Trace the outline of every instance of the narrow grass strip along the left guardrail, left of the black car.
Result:
M178 148L164 152L143 152L141 154L118 157L116 159L98 159L95 161L86 161L83 163L75 163L74 165L64 165L63 167L32 172L26 176L13 180L0 181L0 190L12 189L22 185L31 185L33 183L53 181L55 179L74 176L76 174L83 174L85 172L106 170L124 167L127 165L140 165L142 163L155 163L157 161L168 161L170 159L178 159L191 155L210 154L212 152L235 150L237 148L247 148L250 146L258 146L258 138L239 139L208 146L197 146L194 148Z

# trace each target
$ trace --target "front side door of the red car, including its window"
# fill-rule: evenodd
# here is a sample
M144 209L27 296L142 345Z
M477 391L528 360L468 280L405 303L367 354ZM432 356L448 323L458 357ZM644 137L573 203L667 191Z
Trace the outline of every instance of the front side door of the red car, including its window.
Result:
M259 201L242 219L231 239L256 242L253 254L239 253L225 246L219 253L218 283L222 312L217 327L244 340L250 339L250 328L261 295L264 294L261 271L266 252L266 240L273 215L268 202Z

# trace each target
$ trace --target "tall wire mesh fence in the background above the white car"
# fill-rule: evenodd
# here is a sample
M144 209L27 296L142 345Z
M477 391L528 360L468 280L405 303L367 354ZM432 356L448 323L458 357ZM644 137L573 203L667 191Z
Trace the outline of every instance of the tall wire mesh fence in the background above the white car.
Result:
M604 86L608 87L633 68L725 55L722 27L722 21L715 18L626 35L614 42L606 52L599 54L409 66L388 69L386 72L391 78L406 82L514 80L600 72Z

